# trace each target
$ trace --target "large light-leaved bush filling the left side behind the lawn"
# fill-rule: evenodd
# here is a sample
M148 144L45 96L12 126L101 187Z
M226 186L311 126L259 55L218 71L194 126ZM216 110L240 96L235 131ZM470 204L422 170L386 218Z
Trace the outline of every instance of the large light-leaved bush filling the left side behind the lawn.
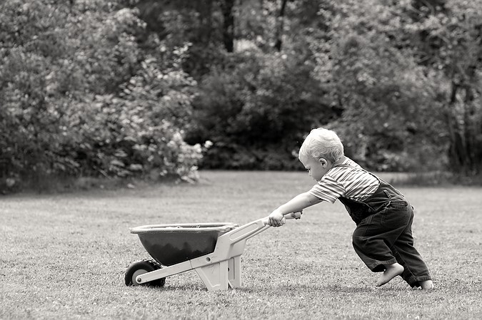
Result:
M53 176L196 178L201 147L183 138L196 83L176 67L182 50L140 47L137 15L101 1L1 4L0 190Z

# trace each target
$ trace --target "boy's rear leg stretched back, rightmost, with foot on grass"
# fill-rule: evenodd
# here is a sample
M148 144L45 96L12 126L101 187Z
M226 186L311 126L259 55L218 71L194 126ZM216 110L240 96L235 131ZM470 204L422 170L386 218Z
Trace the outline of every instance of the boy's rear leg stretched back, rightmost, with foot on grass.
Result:
M433 283L428 272L428 267L417 249L413 247L413 236L411 226L413 222L413 210L408 208L411 213L410 221L406 229L391 247L393 255L396 257L404 270L402 277L411 287L422 287L422 289L433 289Z

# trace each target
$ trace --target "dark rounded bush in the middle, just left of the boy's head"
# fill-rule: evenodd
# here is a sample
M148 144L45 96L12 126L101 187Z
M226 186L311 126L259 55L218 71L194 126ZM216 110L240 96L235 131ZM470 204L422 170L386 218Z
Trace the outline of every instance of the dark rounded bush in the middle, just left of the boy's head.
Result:
M309 61L281 53L229 55L200 83L189 141L211 140L203 167L288 170L316 119L333 117Z

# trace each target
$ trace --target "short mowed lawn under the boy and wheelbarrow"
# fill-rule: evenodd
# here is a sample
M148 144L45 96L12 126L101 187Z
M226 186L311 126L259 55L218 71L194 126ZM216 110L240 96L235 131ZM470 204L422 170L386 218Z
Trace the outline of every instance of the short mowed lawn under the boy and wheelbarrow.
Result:
M126 287L149 258L129 227L244 224L308 190L304 172L201 172L197 185L0 198L0 319L481 319L482 189L399 189L416 207L416 247L434 291L381 288L351 247L338 202L249 239L243 288L207 291L196 272Z

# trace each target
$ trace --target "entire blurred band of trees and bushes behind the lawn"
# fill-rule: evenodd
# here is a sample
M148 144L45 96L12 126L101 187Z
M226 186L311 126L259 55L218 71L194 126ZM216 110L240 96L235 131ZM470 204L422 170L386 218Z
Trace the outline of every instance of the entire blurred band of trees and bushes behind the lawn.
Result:
M482 0L6 0L0 189L299 168L482 168ZM208 142L208 143L206 143ZM209 147L209 148L208 148Z

